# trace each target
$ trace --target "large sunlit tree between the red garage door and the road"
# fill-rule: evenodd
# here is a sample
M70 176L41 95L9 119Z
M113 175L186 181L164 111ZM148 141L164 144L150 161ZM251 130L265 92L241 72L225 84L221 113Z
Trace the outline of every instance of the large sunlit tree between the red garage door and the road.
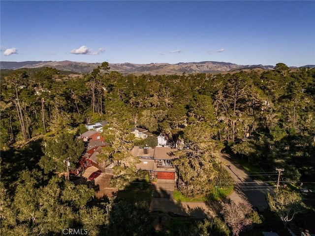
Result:
M180 158L174 164L184 182L181 192L187 197L206 196L215 186L218 176L216 158L223 146L212 139L212 131L211 126L204 122L189 125L184 130L184 140L189 149L179 151Z

